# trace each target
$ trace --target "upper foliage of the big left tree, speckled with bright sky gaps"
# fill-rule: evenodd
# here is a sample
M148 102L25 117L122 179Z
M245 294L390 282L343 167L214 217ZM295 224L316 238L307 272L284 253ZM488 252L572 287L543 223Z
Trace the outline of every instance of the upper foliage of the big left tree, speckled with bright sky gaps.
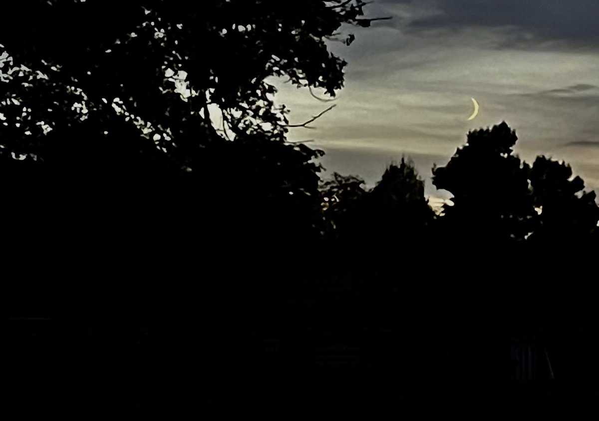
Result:
M360 0L19 4L0 32L18 67L5 72L11 82L5 97L19 102L7 104L5 114L17 121L23 107L31 108L17 131L31 131L28 140L40 139L41 128L32 125L41 121L56 134L57 124L95 117L95 130L110 134L111 121L129 116L146 139L160 136L156 145L181 165L198 154L198 143L214 138L210 112L222 113L234 134L282 139L286 110L274 106L275 89L265 79L286 77L334 95L346 62L324 41L343 23L368 22L360 19L363 6ZM71 109L75 101L80 106ZM113 108L122 111L115 116ZM57 110L66 113L57 118ZM10 149L31 152L24 145Z

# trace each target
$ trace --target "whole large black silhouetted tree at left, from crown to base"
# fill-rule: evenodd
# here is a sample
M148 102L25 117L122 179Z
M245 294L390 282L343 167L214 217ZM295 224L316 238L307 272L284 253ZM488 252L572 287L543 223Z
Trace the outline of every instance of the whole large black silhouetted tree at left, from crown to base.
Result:
M3 209L21 227L8 242L30 252L19 264L129 279L102 288L107 296L139 296L150 277L199 276L201 287L177 294L207 306L235 290L247 301L247 279L299 277L319 236L322 152L286 143L287 110L265 79L334 95L346 62L325 41L343 23L370 25L364 5L16 4L0 29L0 155L16 195L5 200L19 203ZM152 297L140 301L153 308Z

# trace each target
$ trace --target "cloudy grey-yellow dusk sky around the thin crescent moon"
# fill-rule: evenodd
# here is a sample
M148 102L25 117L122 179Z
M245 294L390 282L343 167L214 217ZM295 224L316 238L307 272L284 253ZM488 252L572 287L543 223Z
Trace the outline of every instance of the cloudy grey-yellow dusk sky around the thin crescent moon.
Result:
M392 19L343 27L356 35L349 47L329 43L348 62L337 100L274 81L291 124L337 105L288 136L323 149L327 173L373 186L406 156L431 202L447 199L432 165L444 166L469 130L506 121L523 160L563 160L599 193L599 1L376 0L364 10ZM470 98L480 112L468 121Z

